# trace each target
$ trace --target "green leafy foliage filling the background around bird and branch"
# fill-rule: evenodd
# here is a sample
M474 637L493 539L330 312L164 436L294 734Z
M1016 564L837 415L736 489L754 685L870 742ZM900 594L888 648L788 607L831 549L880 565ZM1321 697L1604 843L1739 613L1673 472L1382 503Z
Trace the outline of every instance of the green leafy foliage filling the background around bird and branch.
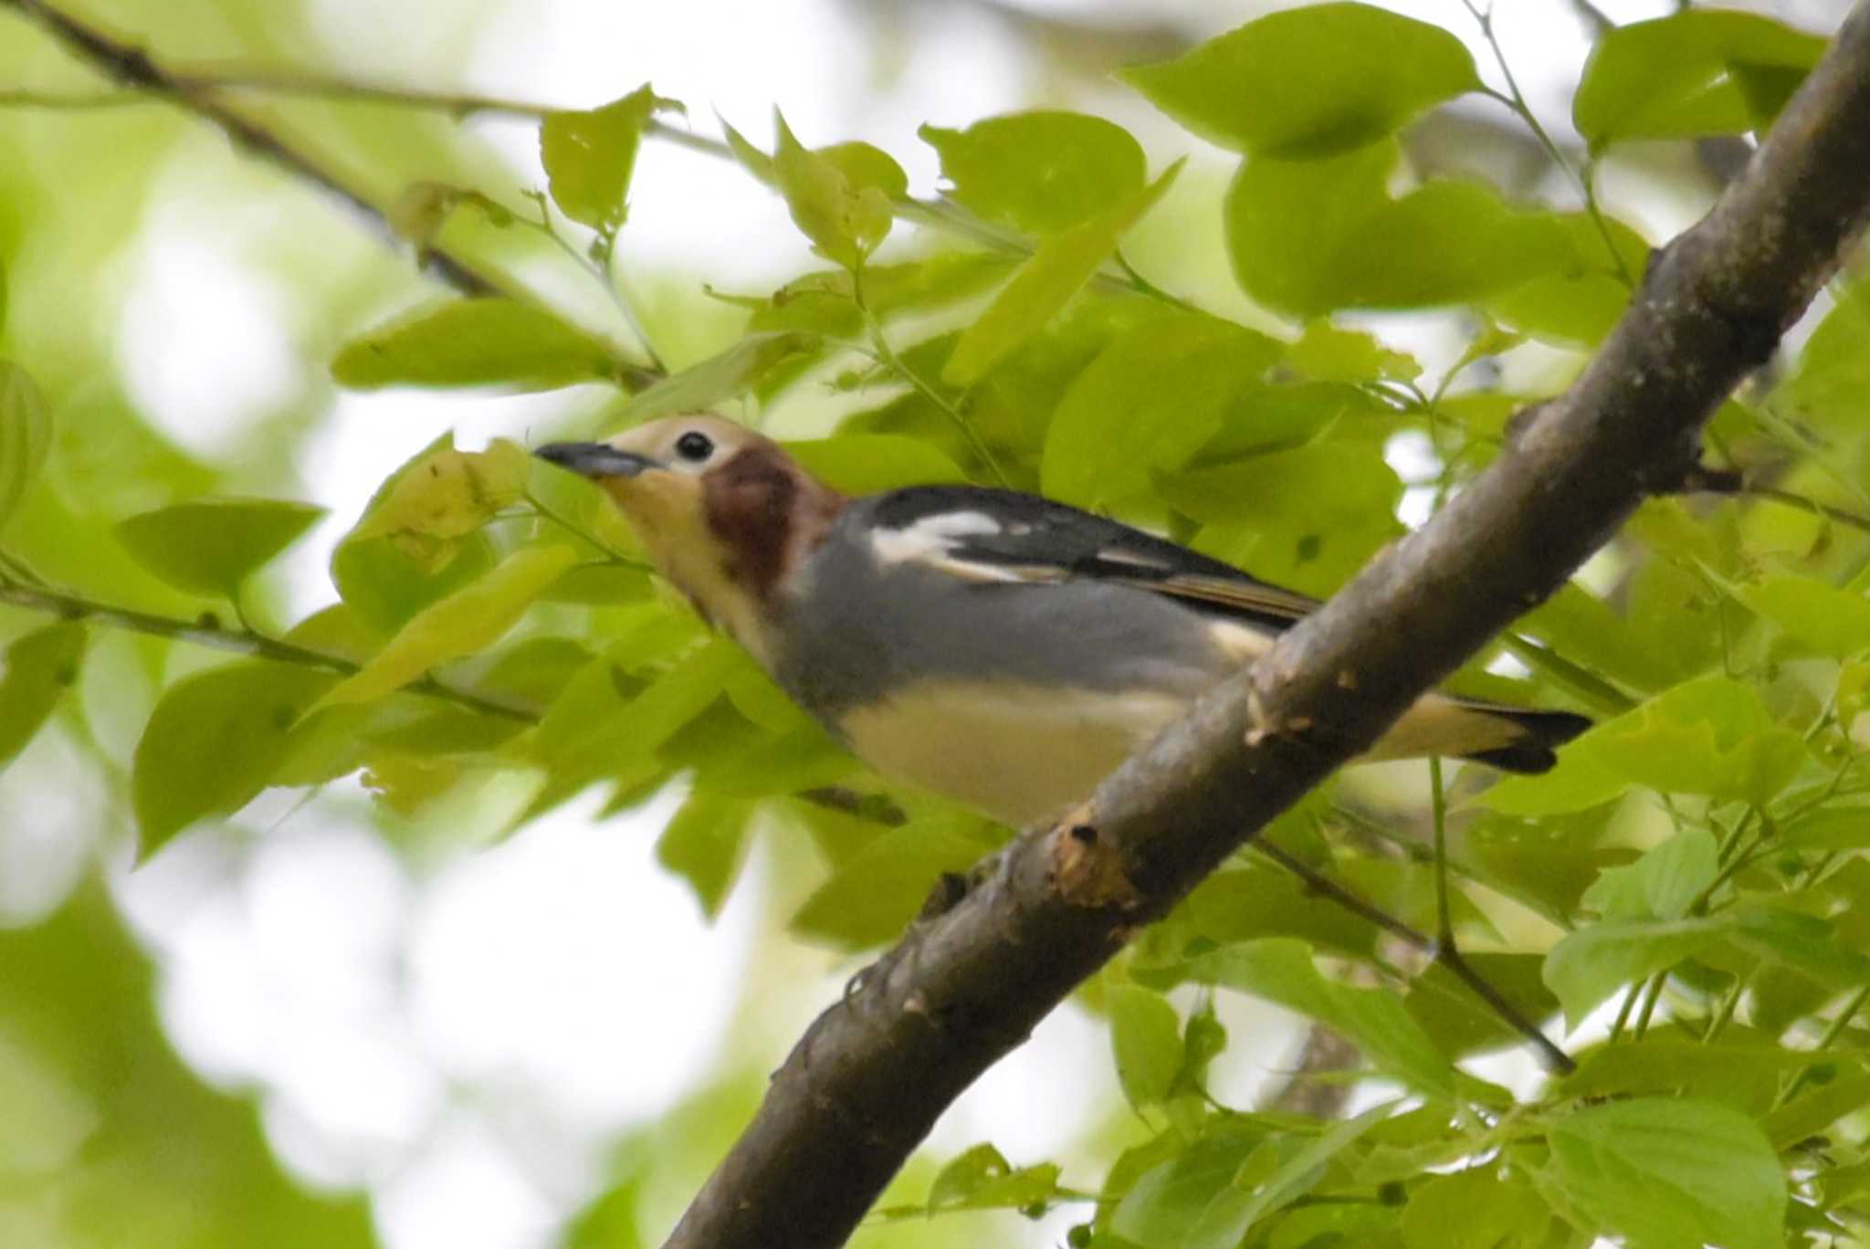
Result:
M286 9L215 13L191 65L284 60L303 34ZM41 24L19 9L0 22L7 77L84 80ZM165 17L159 67L172 32ZM1629 140L1758 133L1820 52L1741 13L1608 30L1573 120L1593 161ZM99 884L131 841L155 854L267 789L348 776L365 778L383 836L473 804L490 780L511 782L496 834L591 789L619 813L679 785L656 856L709 914L778 825L819 858L793 931L870 950L931 881L1006 836L871 776L656 589L595 490L507 441L460 451L443 436L398 467L346 518L318 610L273 628L277 557L320 518L295 501L309 492L294 452L329 419L333 381L578 385L552 417L574 436L733 402L847 490L1043 490L1328 595L1402 531L1399 512L1500 454L1509 415L1563 387L1666 241L1599 202L1590 165L1582 204L1565 206L1412 168L1399 136L1438 107L1492 95L1532 120L1517 88L1483 86L1460 39L1412 19L1300 7L1124 80L1240 153L1225 189L1060 108L924 127L937 198L911 196L879 148L812 146L827 136L778 114L769 146L686 136L737 163L750 194L782 196L828 267L660 318L615 264L638 151L669 140L681 108L647 84L595 110L509 110L539 129L540 187L451 129L488 101L340 80L295 103L243 93L245 116L280 144L290 133L305 161L365 170L353 191L419 260L492 273L496 294L411 309L408 271L353 241L353 223L314 200L280 208L277 176L223 161L217 194L280 211L256 264L314 310L290 395L219 454L178 445L112 365L114 252L202 122L144 107L0 120L0 767L34 767L30 742L56 735L135 823L69 828L94 868L0 933L0 1242L372 1238L357 1199L282 1180L251 1105L166 1049L144 955ZM1219 223L1219 252L1184 241L1195 221ZM1148 277L1133 256L1152 258ZM1178 294L1212 292L1227 266L1225 307ZM1864 292L1840 282L1778 385L1715 421L1707 458L1748 490L1649 503L1518 624L1518 664L1496 649L1462 675L1599 718L1548 776L1459 774L1447 828L1475 967L1537 1019L1614 1017L1578 1073L1515 1098L1459 1068L1511 1030L1440 969L1410 980L1365 918L1244 854L1086 989L1133 1111L1105 1141L1107 1169L1015 1163L991 1144L918 1161L862 1242L976 1243L963 1212L1057 1206L1083 1212L1070 1243L1101 1249L1763 1249L1859 1232ZM1457 346L1412 348L1388 312L1432 316ZM720 340L684 329L726 314L737 329ZM125 630L137 647L101 645ZM1416 795L1348 778L1273 836L1432 926L1425 828ZM1341 1122L1221 1105L1206 1090L1227 1049L1217 991L1337 1030L1367 1062L1341 1079L1410 1101ZM654 1243L754 1092L729 1081L619 1141L567 1243Z

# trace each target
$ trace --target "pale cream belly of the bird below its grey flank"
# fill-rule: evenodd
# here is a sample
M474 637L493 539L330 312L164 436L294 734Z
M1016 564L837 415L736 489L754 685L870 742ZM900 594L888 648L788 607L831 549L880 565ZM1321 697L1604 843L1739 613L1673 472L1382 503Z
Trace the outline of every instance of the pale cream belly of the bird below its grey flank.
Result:
M1156 692L1008 690L929 681L845 712L864 763L1015 828L1090 797L1187 703Z

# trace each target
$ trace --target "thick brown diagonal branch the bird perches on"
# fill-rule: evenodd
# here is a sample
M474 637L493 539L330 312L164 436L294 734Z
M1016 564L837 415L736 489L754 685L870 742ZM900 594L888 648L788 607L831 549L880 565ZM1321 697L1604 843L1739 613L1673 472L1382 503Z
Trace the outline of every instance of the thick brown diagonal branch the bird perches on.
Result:
M842 1243L935 1118L1273 815L1556 591L1763 363L1870 221L1870 9L1752 165L1655 256L1597 357L1500 460L1251 671L825 1012L671 1249Z

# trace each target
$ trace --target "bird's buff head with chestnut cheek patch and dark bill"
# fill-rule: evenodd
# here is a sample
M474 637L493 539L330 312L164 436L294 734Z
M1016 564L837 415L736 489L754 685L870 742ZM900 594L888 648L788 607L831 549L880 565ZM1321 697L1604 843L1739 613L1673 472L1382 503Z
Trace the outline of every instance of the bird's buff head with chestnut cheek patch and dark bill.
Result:
M662 576L755 654L785 578L843 507L770 438L712 415L535 454L615 499Z

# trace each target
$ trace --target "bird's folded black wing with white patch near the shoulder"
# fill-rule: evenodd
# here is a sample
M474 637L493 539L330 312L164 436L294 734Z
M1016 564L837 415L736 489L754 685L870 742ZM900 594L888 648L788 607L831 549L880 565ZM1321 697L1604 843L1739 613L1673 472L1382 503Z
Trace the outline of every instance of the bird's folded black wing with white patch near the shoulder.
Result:
M913 486L875 499L873 522L907 529L952 512L978 512L999 533L954 537L948 559L1012 572L1034 581L1085 578L1178 598L1191 608L1283 630L1318 608L1279 585L1259 581L1141 529L1030 494L985 486Z

